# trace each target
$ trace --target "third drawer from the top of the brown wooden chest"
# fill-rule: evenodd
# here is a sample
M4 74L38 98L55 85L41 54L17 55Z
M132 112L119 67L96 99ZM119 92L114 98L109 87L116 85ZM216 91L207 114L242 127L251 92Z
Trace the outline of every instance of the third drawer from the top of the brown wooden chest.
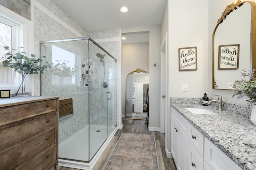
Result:
M0 169L16 169L46 149L55 146L55 133L56 128L0 152Z

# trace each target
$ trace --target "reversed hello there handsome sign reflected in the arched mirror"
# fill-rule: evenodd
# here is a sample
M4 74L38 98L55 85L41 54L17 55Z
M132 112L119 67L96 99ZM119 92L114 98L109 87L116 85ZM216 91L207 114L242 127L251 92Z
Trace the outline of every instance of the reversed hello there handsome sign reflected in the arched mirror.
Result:
M239 47L240 44L219 46L218 69L239 68Z

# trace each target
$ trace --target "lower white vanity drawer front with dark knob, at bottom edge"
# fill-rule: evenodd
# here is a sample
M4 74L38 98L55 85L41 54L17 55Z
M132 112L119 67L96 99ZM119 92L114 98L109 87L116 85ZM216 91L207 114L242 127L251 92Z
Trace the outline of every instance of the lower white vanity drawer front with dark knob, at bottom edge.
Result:
M196 151L193 145L188 141L188 169L189 170L202 170L204 167L204 160Z

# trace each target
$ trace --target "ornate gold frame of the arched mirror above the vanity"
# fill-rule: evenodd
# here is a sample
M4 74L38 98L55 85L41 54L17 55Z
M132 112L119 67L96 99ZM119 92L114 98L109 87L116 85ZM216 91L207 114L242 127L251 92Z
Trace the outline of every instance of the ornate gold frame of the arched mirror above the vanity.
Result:
M220 25L220 23L222 23L226 19L228 14L230 14L233 10L238 9L238 7L241 7L245 2L250 3L252 6L252 11L251 11L251 15L252 15L252 25L251 25L251 27L252 27L252 69L256 69L256 48L254 47L256 45L256 5L255 5L255 2L251 1L251 0L247 0L247 1L243 1L243 2L241 2L241 0L238 0L236 2L236 4L232 3L226 7L224 12L222 13L221 18L218 19L217 25L212 33L212 89L231 90L231 89L217 88L218 85L216 84L216 81L214 79L214 35L215 35L218 25Z

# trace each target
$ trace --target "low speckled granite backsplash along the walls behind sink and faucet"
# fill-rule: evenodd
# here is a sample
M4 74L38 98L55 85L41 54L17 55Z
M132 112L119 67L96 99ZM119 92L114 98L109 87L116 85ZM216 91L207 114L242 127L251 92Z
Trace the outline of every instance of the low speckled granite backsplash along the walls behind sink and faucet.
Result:
M209 99L211 100L211 99ZM201 98L170 98L170 104L201 104L202 99ZM218 105L216 103L212 103L212 106L218 108ZM222 109L229 111L231 113L235 113L238 115L242 115L244 117L250 118L252 108L239 105L239 104L233 104L230 102L223 102L222 101Z

